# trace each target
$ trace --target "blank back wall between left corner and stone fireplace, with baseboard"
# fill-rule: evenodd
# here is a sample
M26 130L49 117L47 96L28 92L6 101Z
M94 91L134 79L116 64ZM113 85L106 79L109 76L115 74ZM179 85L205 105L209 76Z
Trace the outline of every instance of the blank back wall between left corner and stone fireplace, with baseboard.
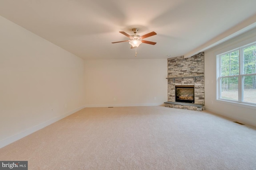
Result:
M85 77L87 107L153 106L167 101L167 59L85 60Z

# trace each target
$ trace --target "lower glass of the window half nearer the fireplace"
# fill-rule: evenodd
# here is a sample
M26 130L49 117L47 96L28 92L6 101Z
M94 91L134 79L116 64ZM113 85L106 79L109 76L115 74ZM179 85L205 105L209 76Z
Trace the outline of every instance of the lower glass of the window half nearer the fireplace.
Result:
M238 77L221 78L220 98L238 101Z

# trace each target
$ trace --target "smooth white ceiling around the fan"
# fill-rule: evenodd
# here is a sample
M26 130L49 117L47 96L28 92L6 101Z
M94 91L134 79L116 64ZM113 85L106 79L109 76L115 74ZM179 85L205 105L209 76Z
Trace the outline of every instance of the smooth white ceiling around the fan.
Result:
M218 42L256 18L255 7L256 0L0 0L0 15L83 59L134 59L128 42L111 43L128 40L119 31L155 31L145 40L157 44L143 43L136 58L164 59Z

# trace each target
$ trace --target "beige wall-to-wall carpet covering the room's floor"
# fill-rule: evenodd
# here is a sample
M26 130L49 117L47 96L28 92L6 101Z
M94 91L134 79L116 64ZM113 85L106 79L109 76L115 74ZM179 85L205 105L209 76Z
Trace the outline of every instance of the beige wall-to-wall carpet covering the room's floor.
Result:
M85 108L0 149L46 170L256 170L256 129L207 111Z

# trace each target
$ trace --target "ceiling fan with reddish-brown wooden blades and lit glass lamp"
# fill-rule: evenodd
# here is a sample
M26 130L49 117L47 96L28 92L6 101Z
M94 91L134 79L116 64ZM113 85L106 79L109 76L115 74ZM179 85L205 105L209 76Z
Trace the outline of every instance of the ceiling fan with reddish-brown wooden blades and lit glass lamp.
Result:
M125 35L126 37L130 38L130 40L125 40L125 41L117 41L117 42L112 42L112 43L122 43L122 42L127 42L129 41L129 44L132 45L131 46L131 49L133 48L136 48L136 47L139 47L139 45L141 43L146 43L146 44L151 44L151 45L155 45L156 43L155 42L152 42L152 41L146 41L146 40L143 40L144 38L147 38L147 37L151 37L153 35L156 35L156 33L153 31L151 33L147 33L145 35L137 35L137 31L138 29L137 28L133 28L132 31L134 32L134 35L129 35L128 33L124 32L124 31L119 31L121 34Z

